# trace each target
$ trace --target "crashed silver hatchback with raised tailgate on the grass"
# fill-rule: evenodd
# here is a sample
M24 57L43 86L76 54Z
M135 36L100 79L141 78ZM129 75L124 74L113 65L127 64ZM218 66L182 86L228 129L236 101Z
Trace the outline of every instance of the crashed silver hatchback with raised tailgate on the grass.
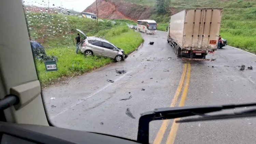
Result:
M76 30L84 36L83 41L79 44L79 49L85 56L96 55L112 58L115 61L125 60L128 57L123 49L116 47L109 41L97 37L86 37L83 31Z

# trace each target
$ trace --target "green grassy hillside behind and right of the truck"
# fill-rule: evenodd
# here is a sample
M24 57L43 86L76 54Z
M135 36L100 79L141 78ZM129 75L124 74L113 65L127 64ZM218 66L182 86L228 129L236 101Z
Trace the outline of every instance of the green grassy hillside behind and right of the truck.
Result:
M185 8L223 8L220 34L227 39L228 45L256 53L256 1L254 0L171 0L177 11ZM158 30L166 31L169 15L153 14Z

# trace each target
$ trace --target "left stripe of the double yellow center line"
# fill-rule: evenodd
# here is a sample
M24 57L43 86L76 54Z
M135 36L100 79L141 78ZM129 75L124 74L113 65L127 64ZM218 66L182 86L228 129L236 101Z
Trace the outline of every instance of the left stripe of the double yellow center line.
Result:
M183 86L183 82L184 82L184 79L185 79L186 71L187 71L187 63L184 64L184 69L183 69L183 72L182 72L182 75L181 75L181 80L180 80L179 86L177 87L177 90L174 94L174 97L172 99L170 107L174 107L177 103L177 100L179 98L179 95L180 95L180 92L181 92L181 89L182 89L182 86ZM168 126L168 123L169 123L169 120L163 120L162 125L161 125L159 131L157 132L157 135L156 135L156 138L155 138L153 144L160 144L161 143L163 135L165 134L166 128Z

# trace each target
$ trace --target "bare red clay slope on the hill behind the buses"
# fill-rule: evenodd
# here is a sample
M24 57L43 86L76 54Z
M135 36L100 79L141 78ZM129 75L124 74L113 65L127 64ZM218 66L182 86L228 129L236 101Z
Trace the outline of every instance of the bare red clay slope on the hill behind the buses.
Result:
M98 17L106 19L147 19L151 16L153 8L150 6L138 6L136 4L119 2L114 0L97 0ZM96 14L96 2L88 6L83 12Z

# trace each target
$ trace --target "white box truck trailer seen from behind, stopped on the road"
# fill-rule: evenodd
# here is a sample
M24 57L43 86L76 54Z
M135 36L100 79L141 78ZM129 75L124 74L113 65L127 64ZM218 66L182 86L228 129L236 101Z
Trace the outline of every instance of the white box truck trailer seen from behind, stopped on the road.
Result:
M205 59L217 50L222 8L185 9L171 16L167 42L177 56Z

